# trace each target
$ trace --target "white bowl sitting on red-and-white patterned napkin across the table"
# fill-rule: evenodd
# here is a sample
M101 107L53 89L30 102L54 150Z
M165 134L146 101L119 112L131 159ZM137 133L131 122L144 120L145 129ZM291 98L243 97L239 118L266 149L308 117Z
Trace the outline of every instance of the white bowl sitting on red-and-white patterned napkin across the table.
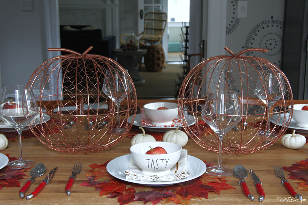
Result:
M166 107L166 110L158 110L157 108ZM172 120L178 116L177 104L169 102L148 103L143 106L144 114L155 125L169 125Z

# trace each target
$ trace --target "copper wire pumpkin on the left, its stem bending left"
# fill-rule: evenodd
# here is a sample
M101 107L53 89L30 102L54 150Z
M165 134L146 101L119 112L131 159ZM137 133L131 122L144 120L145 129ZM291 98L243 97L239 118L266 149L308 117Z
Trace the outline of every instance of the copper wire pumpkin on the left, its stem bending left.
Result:
M31 130L51 149L73 153L105 150L119 142L132 127L137 109L132 79L113 59L87 54L91 48L82 54L48 49L71 54L49 59L34 71L28 82L36 93L43 122L32 125ZM115 103L102 91L108 69L125 72L133 87L120 105L120 124L116 120ZM45 116L51 119L45 122ZM114 128L122 128L124 132L113 134L110 130Z

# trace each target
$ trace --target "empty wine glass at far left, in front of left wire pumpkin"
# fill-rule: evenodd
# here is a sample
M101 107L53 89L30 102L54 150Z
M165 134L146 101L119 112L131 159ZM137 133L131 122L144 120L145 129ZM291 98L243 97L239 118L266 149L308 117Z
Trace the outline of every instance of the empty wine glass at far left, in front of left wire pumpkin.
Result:
M32 167L35 162L22 159L22 129L39 113L31 87L13 85L3 88L0 100L0 116L18 132L19 159L9 162L11 169Z

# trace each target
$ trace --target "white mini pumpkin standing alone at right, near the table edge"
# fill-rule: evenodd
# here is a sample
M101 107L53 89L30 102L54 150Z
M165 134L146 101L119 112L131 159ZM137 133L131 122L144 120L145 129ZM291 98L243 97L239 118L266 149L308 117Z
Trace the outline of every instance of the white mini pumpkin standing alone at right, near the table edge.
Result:
M295 130L293 130L292 134L286 134L281 137L281 143L289 149L301 149L306 144L306 137L296 135Z

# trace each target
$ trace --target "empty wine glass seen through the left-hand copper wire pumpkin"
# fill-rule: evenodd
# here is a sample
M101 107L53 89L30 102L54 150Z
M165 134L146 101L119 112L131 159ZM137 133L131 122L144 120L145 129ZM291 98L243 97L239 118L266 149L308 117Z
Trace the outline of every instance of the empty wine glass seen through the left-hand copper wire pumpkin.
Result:
M107 70L103 82L103 92L113 101L116 105L117 124L118 128L111 130L111 133L122 134L123 128L120 128L120 103L126 96L132 92L132 83L128 79L128 73L115 69Z

